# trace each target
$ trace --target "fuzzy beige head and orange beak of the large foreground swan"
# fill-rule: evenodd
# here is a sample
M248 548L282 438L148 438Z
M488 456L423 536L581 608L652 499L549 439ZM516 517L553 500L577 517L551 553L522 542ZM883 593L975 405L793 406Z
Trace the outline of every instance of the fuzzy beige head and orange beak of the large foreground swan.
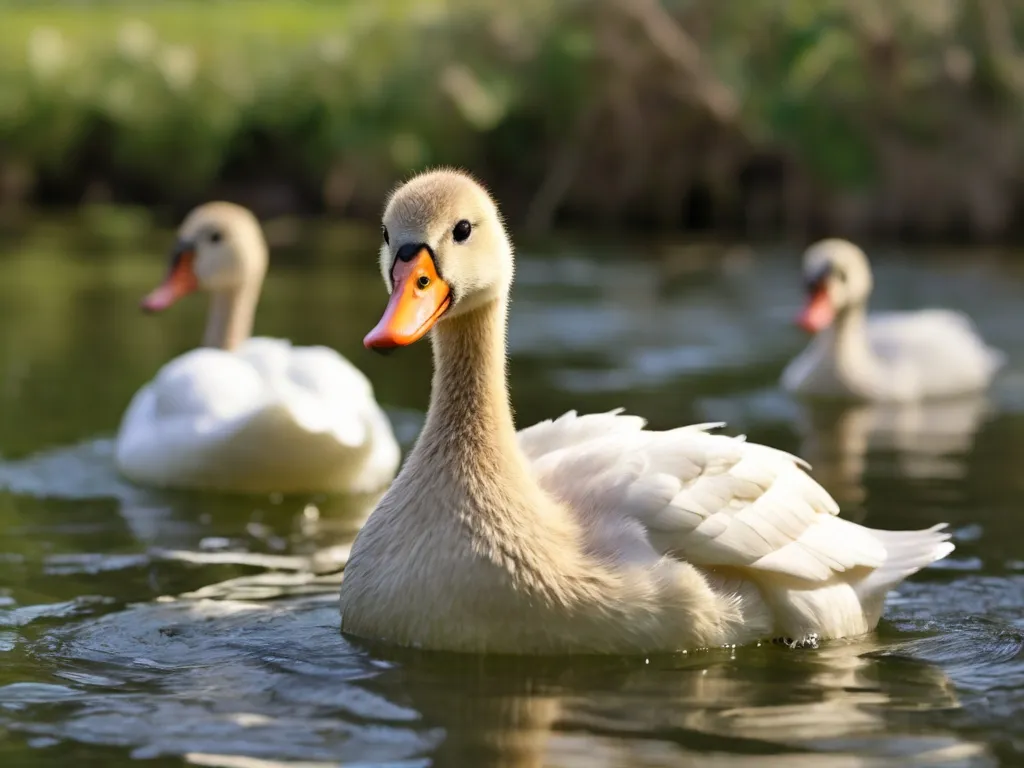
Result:
M437 324L504 298L512 285L512 246L498 206L461 171L428 171L399 186L381 233L391 298L364 339L370 349L408 346Z

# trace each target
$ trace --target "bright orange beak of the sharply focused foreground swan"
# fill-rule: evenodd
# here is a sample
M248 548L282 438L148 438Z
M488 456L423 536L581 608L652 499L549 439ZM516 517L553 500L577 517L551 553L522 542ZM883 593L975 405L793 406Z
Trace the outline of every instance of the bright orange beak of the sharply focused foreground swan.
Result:
M426 246L408 261L395 259L391 282L394 290L384 315L362 340L367 349L393 349L419 341L452 304L452 288L438 276Z

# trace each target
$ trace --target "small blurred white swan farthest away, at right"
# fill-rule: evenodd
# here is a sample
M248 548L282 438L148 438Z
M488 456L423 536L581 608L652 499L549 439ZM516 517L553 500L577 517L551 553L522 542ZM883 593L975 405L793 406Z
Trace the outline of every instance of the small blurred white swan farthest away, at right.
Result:
M959 312L868 317L871 269L852 243L808 248L804 278L808 303L799 322L817 336L782 373L791 392L888 402L955 397L984 390L1005 364Z

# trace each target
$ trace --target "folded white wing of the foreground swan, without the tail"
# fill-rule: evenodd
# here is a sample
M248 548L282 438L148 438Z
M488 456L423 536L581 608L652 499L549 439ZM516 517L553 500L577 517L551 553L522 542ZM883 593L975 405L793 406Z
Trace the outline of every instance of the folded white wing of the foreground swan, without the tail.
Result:
M886 543L837 518L800 460L715 426L655 432L617 411L569 413L519 437L546 490L588 519L641 523L663 554L811 583L883 566Z

